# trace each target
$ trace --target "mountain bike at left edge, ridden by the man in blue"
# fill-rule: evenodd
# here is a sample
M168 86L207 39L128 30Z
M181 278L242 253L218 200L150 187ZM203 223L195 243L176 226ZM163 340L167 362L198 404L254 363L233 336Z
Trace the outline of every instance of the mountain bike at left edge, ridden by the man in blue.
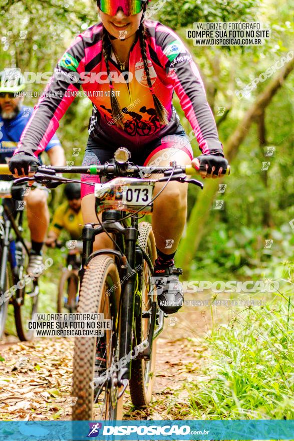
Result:
M22 236L26 185L0 181L0 338L5 329L8 305L13 304L17 334L22 341L33 338L27 320L38 310L38 279L26 272L29 250ZM16 206L18 205L18 207Z

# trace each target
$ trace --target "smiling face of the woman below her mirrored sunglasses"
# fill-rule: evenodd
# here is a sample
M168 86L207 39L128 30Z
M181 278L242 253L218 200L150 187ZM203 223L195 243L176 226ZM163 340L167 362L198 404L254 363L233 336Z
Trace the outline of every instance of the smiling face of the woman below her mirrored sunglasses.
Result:
M100 9L98 9L98 11L105 29L110 35L113 35L120 40L129 38L136 33L139 29L141 17L143 15L142 10L139 14L126 16L122 8L118 8L115 16L105 14Z

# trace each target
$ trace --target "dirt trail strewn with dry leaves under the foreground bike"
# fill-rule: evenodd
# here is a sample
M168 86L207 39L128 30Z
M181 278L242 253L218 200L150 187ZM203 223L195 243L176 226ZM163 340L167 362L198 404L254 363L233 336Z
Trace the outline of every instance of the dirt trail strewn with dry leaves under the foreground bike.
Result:
M134 410L127 394L125 418L189 417L183 385L197 381L200 359L205 356L200 338L210 322L203 311L183 307L165 319L164 331L157 339L153 403L146 411ZM9 337L1 341L0 418L70 419L73 346L73 339L62 338L20 343Z

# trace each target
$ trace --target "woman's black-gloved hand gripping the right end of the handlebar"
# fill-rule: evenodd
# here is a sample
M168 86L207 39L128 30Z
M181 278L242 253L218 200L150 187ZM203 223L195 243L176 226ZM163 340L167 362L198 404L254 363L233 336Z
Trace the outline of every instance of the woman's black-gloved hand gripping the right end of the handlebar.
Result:
M192 159L192 165L203 179L206 177L216 179L222 176L222 171L226 170L228 161L220 155L200 155Z

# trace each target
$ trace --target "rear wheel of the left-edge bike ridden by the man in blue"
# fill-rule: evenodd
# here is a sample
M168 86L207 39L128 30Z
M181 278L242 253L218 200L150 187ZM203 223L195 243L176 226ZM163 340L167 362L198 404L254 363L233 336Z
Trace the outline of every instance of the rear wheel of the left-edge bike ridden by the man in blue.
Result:
M38 312L38 279L33 280L27 274L28 263L29 256L23 248L23 259L19 267L18 281L16 281L16 284L19 282L19 288L14 298L16 328L21 341L34 338L34 330L27 330L27 320L31 320L33 314Z

